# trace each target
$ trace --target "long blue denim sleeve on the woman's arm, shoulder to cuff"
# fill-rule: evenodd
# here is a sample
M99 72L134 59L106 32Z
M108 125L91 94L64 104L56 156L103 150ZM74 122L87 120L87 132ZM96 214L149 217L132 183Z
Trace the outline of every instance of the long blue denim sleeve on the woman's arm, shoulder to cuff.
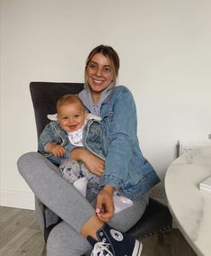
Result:
M128 163L132 157L132 147L137 146L136 104L127 87L116 87L114 94L113 118L110 122L110 139L105 170L101 186L110 184L122 187L127 178ZM141 151L139 150L141 153Z

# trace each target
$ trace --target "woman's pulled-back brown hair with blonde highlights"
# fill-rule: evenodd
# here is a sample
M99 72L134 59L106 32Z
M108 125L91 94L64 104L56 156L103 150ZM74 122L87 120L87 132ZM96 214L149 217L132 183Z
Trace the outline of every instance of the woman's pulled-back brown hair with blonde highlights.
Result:
M92 57L96 53L102 53L107 59L110 60L110 66L113 72L113 79L114 79L114 84L116 84L116 80L118 78L119 74L119 55L116 50L114 50L111 46L109 45L99 45L95 47L89 54L88 58L86 59L86 65L85 65L85 82L86 81L86 68L89 62L91 61Z

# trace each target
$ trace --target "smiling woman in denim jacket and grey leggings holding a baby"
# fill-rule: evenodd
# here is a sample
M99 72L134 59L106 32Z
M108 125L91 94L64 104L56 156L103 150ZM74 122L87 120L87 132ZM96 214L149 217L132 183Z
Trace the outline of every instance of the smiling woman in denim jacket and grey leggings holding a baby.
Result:
M48 256L83 255L86 251L92 255L141 255L140 242L124 232L144 214L148 191L159 178L140 151L136 105L127 87L115 87L118 74L115 50L100 45L91 51L79 96L89 112L101 115L108 151L105 161L84 148L71 151L71 158L83 161L101 177L98 196L90 191L82 197L39 153L25 154L18 161L19 171L34 194L63 220L48 236ZM115 189L133 200L133 206L114 215Z

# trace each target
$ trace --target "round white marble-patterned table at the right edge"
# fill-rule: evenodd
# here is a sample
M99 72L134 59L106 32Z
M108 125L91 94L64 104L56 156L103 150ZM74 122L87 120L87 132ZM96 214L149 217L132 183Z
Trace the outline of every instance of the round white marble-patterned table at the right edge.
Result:
M174 220L198 255L211 255L211 194L199 183L211 176L211 147L174 160L165 175L165 192Z

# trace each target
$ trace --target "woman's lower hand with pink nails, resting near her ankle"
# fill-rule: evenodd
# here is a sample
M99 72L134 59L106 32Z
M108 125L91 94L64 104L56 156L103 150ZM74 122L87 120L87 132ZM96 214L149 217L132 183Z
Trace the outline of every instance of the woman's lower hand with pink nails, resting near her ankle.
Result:
M106 185L97 196L96 214L101 221L108 223L114 215L113 193L115 188Z

